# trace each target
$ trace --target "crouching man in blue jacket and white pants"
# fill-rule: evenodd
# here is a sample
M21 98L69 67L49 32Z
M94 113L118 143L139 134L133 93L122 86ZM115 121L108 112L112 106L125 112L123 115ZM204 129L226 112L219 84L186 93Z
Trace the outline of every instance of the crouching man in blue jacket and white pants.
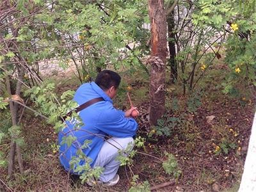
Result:
M113 99L116 95L121 77L111 70L103 70L98 74L95 82L84 83L76 91L74 100L79 106L87 102L87 106L79 111L83 125L77 129L73 121L66 121L67 126L60 131L58 141L60 145L60 163L67 172L79 175L70 166L72 157L77 157L77 150L81 150L84 141L88 140L88 147L83 148L83 154L89 157L90 166L100 166L103 173L99 182L106 186L114 186L119 181L116 174L120 162L116 160L118 150L127 148L133 142L138 124L131 117L136 108L126 112L113 107ZM63 137L76 137L70 146L61 143ZM108 136L108 138L107 138ZM109 138L110 137L110 138ZM107 139L106 139L107 138ZM83 165L84 160L79 161ZM92 186L92 182L87 182Z

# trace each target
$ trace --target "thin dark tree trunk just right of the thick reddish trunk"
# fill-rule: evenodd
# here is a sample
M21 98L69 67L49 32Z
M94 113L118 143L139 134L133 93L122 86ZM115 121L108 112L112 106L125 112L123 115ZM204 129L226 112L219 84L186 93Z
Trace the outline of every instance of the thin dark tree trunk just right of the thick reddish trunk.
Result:
M168 24L168 47L170 53L169 64L171 67L171 75L170 81L174 83L178 77L178 69L177 69L177 62L175 61L176 57L176 50L175 50L175 33L173 32L174 29L174 10L167 16L167 24Z

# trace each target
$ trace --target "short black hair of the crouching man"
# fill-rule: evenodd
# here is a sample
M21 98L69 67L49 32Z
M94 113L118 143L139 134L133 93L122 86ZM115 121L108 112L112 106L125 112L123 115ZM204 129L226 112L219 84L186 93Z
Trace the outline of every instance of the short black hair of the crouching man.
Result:
M106 91L111 86L118 88L121 81L121 77L111 70L102 70L95 79L95 83Z

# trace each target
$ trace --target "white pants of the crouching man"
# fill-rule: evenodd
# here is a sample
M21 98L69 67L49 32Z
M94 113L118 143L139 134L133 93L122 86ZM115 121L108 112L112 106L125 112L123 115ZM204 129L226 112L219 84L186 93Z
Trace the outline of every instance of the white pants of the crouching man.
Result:
M120 155L118 149L124 150L129 143L133 146L133 138L110 138L104 142L93 165L93 168L95 166L104 168L102 175L100 175L100 181L108 182L115 177L120 166L120 162L116 161L116 157Z

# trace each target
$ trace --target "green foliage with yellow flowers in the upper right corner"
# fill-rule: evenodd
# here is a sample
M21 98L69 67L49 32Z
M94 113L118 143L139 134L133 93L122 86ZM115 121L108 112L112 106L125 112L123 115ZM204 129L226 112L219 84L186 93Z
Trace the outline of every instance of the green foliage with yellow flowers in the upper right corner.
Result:
M239 84L252 89L255 79L255 0L253 1L198 1L193 23L200 28L211 27L225 35L225 63L230 68L222 84L225 93L239 97ZM228 35L226 35L228 33ZM220 45L218 45L220 46Z

